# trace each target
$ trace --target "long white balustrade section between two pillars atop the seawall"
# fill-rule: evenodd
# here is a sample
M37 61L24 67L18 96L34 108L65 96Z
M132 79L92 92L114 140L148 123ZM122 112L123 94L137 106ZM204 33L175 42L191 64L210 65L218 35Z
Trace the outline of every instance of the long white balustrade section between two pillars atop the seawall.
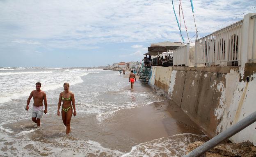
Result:
M222 66L241 64L243 20L195 41L195 63Z

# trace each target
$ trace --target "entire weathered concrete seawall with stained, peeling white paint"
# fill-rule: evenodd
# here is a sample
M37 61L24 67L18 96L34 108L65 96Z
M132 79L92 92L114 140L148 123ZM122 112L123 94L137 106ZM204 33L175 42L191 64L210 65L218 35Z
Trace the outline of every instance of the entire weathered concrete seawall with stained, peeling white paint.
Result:
M170 79L166 75L170 73ZM163 77L165 76L165 77ZM250 82L246 82L246 76ZM239 67L173 67L155 69L155 85L166 89L190 118L213 137L256 111L256 64ZM166 82L167 81L167 82ZM256 123L231 137L256 144Z

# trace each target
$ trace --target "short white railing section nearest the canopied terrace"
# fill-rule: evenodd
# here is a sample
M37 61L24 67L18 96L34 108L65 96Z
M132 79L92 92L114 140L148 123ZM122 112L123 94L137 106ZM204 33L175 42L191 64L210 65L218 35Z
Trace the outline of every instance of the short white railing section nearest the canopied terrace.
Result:
M173 51L173 66L189 66L190 44L180 46Z

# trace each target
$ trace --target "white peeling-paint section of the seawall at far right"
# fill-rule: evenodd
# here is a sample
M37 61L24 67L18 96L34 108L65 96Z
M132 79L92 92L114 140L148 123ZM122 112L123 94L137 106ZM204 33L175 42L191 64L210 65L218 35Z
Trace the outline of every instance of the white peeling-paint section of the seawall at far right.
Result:
M249 76L250 81L246 82ZM215 115L220 122L217 126L217 133L226 130L233 124L239 122L256 111L256 64L246 64L238 71L226 75L226 88L223 88L223 104L215 108ZM222 115L219 116L219 115ZM232 142L251 141L256 145L256 123L248 126L240 133L231 137Z

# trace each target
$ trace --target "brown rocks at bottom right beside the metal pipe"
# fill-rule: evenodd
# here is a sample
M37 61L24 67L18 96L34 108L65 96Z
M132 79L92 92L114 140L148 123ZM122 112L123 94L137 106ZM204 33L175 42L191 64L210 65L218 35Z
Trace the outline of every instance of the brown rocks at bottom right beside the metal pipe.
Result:
M187 146L187 153L201 146L204 142L194 142ZM256 147L251 142L226 143L215 146L204 157L256 157ZM202 157L203 157L202 156Z

